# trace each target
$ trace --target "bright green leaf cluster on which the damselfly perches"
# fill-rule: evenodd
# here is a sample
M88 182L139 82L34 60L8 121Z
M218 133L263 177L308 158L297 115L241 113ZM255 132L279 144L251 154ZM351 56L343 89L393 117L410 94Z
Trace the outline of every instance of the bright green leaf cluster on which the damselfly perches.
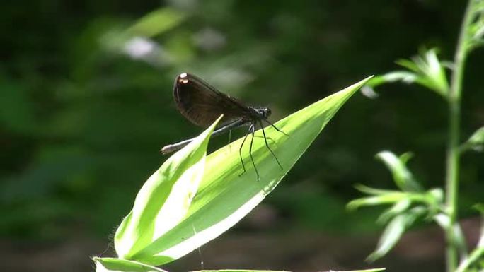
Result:
M115 249L120 259L94 259L98 271L132 271L134 263L167 264L221 235L263 201L342 104L368 79L277 122L275 125L289 136L272 127L266 129L284 168L278 168L259 138L252 153L260 179L253 167L241 175L238 148L232 150L231 145L240 146L243 138L206 156L217 120L145 182L132 211L116 231ZM255 136L263 135L259 130ZM247 159L248 147L242 152Z

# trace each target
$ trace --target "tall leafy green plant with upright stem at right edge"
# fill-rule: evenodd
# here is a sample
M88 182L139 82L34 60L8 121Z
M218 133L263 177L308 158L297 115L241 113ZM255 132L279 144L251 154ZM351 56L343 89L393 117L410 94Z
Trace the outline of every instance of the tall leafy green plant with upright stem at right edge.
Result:
M480 257L484 252L484 229L480 242L471 254L458 223L459 170L461 155L464 151L480 149L483 145L483 129L478 129L465 143L461 143L461 97L463 93L463 71L468 55L473 49L484 45L484 1L470 0L463 18L461 33L457 42L454 61L451 63L451 81L447 83L444 64L437 58L436 50L422 52L422 56L397 63L408 71L396 71L376 78L374 87L384 82L403 81L418 83L434 90L444 97L448 105L449 131L446 145L446 178L444 189L424 191L406 164L410 155L397 157L389 151L377 155L392 172L393 180L399 191L359 187L371 196L357 199L348 204L350 208L374 206L391 203L393 206L380 215L386 229L380 238L379 246L369 256L374 261L386 255L398 242L405 230L419 218L434 220L446 235L446 271L480 271L484 264ZM463 148L463 147L466 148ZM444 198L445 192L445 198ZM483 219L484 225L484 219ZM457 266L460 262L459 269Z

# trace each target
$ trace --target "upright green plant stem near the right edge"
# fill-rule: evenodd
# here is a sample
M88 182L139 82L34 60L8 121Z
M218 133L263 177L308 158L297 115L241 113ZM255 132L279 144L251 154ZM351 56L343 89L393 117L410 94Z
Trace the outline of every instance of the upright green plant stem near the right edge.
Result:
M473 0L468 1L466 12L461 25L459 41L454 55L454 71L449 88L449 135L446 158L446 211L450 224L446 232L446 270L454 272L457 267L457 248L454 228L457 219L457 201L459 192L459 132L461 122L461 89L464 64L468 52L468 26L472 22Z

